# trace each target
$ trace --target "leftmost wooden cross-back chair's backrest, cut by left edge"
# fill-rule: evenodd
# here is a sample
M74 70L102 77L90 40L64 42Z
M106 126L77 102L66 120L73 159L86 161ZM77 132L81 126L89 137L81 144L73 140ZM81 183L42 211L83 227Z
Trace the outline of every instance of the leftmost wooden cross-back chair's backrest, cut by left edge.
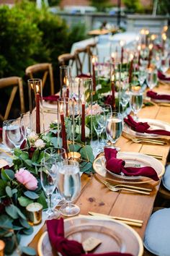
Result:
M2 121L8 119L9 112L12 108L12 103L14 101L15 95L19 88L19 98L20 98L20 108L21 112L24 113L24 93L21 77L6 77L0 79L0 90L4 88L12 88L11 94L9 96L9 101L6 101L6 110L4 114L0 113L0 119Z

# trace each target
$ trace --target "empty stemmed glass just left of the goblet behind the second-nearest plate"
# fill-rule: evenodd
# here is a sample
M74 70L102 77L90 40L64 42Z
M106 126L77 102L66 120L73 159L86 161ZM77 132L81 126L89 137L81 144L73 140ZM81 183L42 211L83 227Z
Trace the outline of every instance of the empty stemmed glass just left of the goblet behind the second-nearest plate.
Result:
M104 109L101 108L100 113L94 116L94 122L93 122L95 132L97 133L97 148L95 150L96 153L99 153L101 149L99 147L99 136L102 135L102 131L104 130L104 124L105 124Z

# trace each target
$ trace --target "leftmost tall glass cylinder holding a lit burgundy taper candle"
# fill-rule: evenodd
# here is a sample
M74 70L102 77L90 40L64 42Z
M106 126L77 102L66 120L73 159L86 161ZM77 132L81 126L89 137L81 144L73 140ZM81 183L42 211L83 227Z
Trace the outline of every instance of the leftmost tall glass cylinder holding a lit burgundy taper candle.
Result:
M44 115L42 107L42 80L28 80L28 92L30 103L30 126L31 130L40 134L45 132Z

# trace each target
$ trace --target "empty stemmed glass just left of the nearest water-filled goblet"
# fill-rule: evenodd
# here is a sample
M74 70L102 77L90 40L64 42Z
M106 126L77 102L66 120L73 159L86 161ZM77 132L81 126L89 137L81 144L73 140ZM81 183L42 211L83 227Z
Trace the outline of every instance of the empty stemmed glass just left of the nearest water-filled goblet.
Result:
M51 207L51 196L55 191L56 180L58 176L58 166L56 166L55 158L44 153L42 158L42 166L40 171L40 181L42 184L42 189L45 195L48 197L48 210L45 212L48 215L48 219L58 218L60 213L56 209Z

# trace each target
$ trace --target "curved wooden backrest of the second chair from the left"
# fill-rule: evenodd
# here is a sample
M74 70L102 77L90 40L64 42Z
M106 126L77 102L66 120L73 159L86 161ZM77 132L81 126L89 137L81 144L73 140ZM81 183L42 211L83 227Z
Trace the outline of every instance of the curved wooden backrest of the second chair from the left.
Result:
M48 74L50 77L50 94L53 95L54 92L54 80L53 80L53 67L50 63L40 63L40 64L34 64L30 67L27 67L25 70L25 73L28 77L31 79L36 78L35 74L42 72L42 90L45 86L45 82L47 80Z

